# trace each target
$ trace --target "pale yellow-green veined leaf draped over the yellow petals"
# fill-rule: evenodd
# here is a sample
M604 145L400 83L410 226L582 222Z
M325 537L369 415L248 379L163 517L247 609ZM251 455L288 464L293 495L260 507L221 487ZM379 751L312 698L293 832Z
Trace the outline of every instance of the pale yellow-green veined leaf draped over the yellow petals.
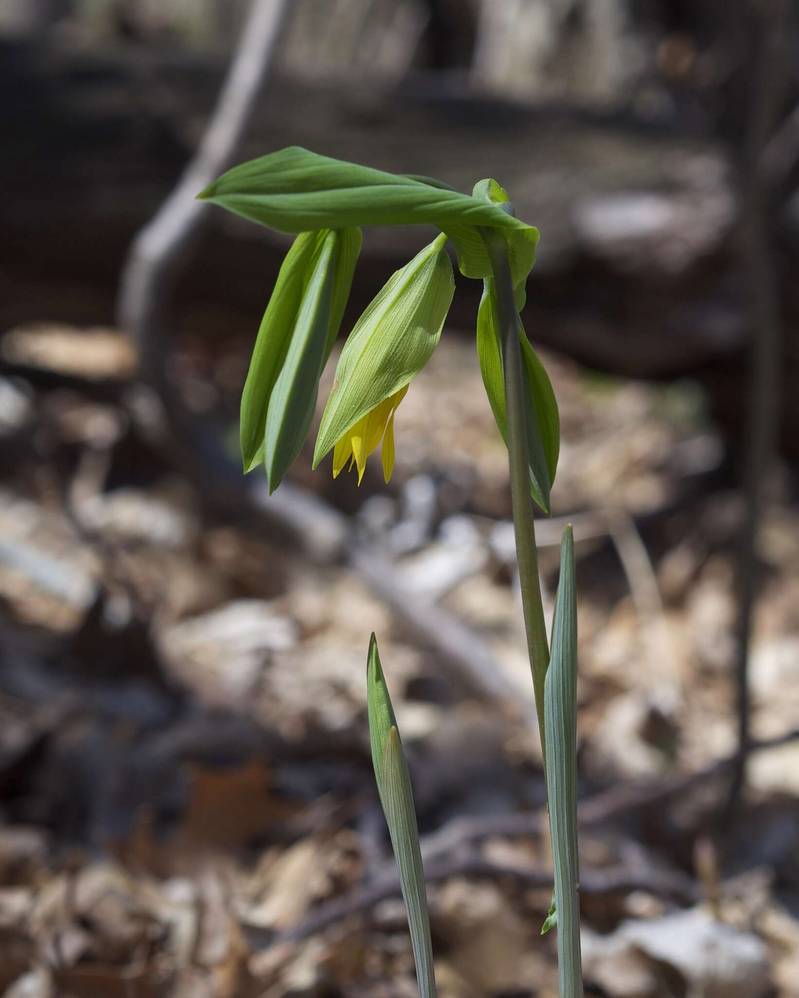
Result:
M445 242L439 236L396 270L349 334L319 426L314 468L361 416L430 359L455 291Z

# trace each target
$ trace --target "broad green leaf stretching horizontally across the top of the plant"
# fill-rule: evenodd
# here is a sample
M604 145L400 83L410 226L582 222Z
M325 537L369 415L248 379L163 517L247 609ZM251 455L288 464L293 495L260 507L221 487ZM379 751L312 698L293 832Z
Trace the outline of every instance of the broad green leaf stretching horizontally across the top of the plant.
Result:
M476 226L501 229L514 283L536 260L538 230L497 205L417 180L293 146L223 174L199 196L280 233L348 226L432 224L455 245L461 272L487 277L491 262Z

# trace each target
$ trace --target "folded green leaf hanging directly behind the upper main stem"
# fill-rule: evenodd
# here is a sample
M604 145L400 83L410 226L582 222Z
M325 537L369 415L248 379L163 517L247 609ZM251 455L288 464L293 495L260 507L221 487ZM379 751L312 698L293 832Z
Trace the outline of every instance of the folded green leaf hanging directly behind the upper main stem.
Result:
M533 498L545 513L549 513L550 491L555 481L561 446L558 403L547 371L527 338L521 319L519 320L519 338L526 373L525 409L527 413L530 486ZM494 413L497 428L507 445L508 420L505 411L505 376L501 342L494 278L487 277L483 282L483 297L477 313L477 353L491 411Z

